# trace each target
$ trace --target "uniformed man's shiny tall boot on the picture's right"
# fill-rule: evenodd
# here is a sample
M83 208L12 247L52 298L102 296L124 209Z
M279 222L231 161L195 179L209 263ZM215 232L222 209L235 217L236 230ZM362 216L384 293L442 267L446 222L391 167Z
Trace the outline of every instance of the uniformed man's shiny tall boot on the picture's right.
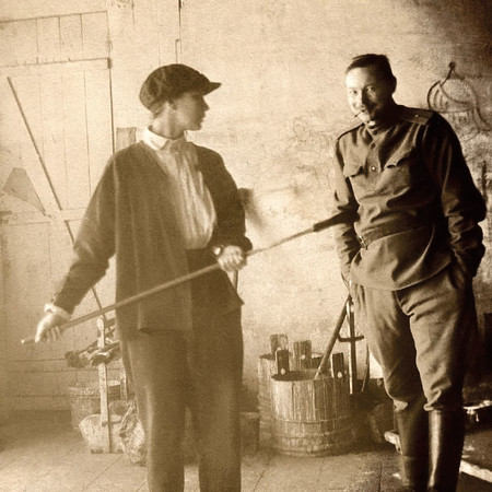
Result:
M458 410L431 410L430 491L455 492L465 441L465 413Z

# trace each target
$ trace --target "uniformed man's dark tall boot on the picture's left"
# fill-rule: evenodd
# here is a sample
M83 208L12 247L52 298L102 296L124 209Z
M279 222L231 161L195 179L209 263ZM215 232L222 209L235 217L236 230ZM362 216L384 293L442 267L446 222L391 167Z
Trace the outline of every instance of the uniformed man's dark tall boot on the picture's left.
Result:
M425 399L415 399L407 409L395 412L400 438L400 476L402 490L424 492L429 472L429 418Z

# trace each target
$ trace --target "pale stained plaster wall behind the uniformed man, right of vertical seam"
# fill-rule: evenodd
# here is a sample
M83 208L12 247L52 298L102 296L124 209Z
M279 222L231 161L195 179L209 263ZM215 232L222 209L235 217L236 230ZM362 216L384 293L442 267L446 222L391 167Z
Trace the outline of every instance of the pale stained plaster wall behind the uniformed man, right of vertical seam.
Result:
M460 136L477 185L490 197L490 5L285 0L230 1L224 8L216 0L185 2L180 59L223 82L208 97L204 128L192 138L221 152L238 185L249 190L247 225L256 247L329 215L333 139L353 121L343 72L363 52L389 57L398 79L396 101L415 107L427 107L431 87L444 82L449 62L456 63L465 80L453 74L443 86L450 93L444 97L446 116ZM467 101L467 110L475 107L482 118L457 116L464 107L454 97ZM490 247L490 220L482 226ZM491 308L490 271L489 253L476 281L480 313ZM253 257L239 288L246 302L247 378L268 349L269 333L311 339L323 351L345 296L331 233Z

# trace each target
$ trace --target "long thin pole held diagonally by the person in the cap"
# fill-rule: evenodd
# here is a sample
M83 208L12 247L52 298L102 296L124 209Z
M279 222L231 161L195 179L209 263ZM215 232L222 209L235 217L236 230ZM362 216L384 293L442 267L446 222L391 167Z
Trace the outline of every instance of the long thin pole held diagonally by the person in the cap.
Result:
M296 234L292 234L291 236L288 236L288 237L284 237L282 239L279 239L279 241L270 244L267 247L258 248L258 249L251 249L247 254L247 256L250 257L250 256L257 255L258 253L267 251L267 250L272 249L272 248L274 248L277 246L280 246L280 245L282 245L284 243L288 243L290 241L293 241L293 239L296 239L298 237L302 237L302 236L304 236L306 234L311 234L311 233L314 233L314 232L323 231L325 229L331 227L332 225L337 225L337 224L339 224L342 221L341 221L341 219L339 216L332 216L332 218L327 219L325 221L316 222L311 227L308 227L308 229L306 229L304 231L301 231L301 232L298 232ZM140 292L139 294L132 295L132 296L130 296L128 298L125 298L122 301L118 301L118 302L116 302L114 304L109 304L108 306L102 307L102 308L99 308L97 311L94 311L92 313L87 313L86 315L81 316L79 318L71 319L70 321L68 321L68 323L66 323L66 324L63 324L63 325L61 325L59 327L60 331L65 331L67 328L71 328L73 326L80 325L81 323L89 321L90 319L94 319L97 316L101 316L101 315L103 315L103 314L105 314L105 313L107 313L109 311L115 311L115 309L118 309L120 307L128 306L129 304L134 304L134 303L141 301L144 297L149 297L149 296L151 296L153 294L156 294L159 292L165 291L166 289L171 289L171 288L174 288L176 285L180 285L181 283L189 282L190 280L194 280L194 279L196 279L198 277L204 276L206 273L210 273L211 271L219 270L219 269L220 269L220 265L219 263L213 263L213 265L210 265L210 266L208 266L206 268L202 268L200 270L196 270L196 271L194 271L191 273L188 273L186 276L179 277L178 279L174 279L174 280L171 280L171 281L165 282L163 284L156 285L156 286L154 286L152 289L149 289L147 291ZM34 337L24 338L24 339L21 340L21 343L22 344L34 343Z

